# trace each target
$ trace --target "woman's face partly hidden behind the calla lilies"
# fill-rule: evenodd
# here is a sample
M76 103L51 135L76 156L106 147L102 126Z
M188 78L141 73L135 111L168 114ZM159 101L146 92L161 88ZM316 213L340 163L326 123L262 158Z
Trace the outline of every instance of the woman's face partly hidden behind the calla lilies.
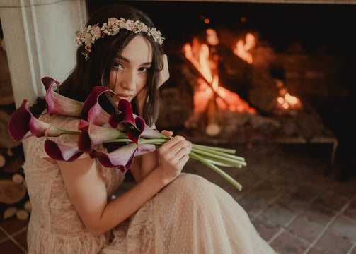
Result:
M120 99L131 102L140 92L144 93L152 57L151 44L141 35L134 37L115 57L109 84L110 89L117 93L113 96L114 102Z

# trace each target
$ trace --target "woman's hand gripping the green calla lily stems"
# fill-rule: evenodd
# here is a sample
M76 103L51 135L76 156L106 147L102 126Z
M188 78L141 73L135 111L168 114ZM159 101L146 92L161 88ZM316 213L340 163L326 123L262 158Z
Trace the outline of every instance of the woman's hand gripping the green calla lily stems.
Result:
M156 170L161 171L165 181L171 182L180 174L188 162L191 149L192 143L180 135L174 136L157 149L159 165Z

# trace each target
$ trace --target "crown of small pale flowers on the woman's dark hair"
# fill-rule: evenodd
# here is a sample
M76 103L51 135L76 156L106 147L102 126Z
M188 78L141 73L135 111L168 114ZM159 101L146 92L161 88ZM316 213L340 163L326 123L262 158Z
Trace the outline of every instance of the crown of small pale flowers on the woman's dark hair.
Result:
M76 31L76 46L80 47L84 44L85 51L82 54L85 59L89 59L89 54L91 52L91 47L99 38L105 37L105 35L117 35L120 29L125 29L127 31L134 32L144 32L147 35L154 38L154 41L162 45L164 37L159 30L156 28L149 28L147 25L139 20L125 20L125 18L108 18L108 22L103 23L102 27L96 25L83 25L83 32Z

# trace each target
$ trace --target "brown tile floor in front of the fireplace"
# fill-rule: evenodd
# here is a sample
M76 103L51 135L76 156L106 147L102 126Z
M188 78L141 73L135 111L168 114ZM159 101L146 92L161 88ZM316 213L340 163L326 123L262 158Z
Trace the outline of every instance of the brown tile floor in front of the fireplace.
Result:
M337 180L339 162L330 163L331 147L234 148L245 157L247 167L224 170L243 185L242 191L194 160L185 171L205 176L229 191L279 253L356 254L356 177ZM26 230L27 222L0 222L0 253L26 253Z

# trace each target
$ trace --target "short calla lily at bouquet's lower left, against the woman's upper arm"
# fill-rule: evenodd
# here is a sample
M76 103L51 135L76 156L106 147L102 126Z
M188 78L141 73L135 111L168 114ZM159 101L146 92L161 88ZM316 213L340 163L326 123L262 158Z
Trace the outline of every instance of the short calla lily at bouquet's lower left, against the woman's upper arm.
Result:
M48 139L45 140L45 151L52 159L66 162L73 162L83 154L83 152L79 151L77 146L55 143Z

